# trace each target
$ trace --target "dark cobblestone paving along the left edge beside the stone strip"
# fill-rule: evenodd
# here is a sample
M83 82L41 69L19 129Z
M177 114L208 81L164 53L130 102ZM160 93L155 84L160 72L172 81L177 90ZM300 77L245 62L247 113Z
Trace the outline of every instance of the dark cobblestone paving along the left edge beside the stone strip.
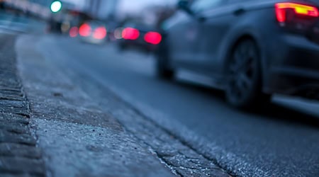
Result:
M15 36L0 36L0 176L45 176L16 70Z

